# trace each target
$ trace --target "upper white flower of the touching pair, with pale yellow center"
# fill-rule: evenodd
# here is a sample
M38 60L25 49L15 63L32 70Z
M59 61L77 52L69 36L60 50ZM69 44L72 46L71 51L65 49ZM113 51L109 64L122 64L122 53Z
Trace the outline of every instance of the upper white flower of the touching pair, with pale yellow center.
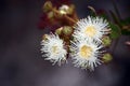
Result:
M73 35L78 39L101 41L101 38L108 32L108 23L105 19L88 16L77 23Z

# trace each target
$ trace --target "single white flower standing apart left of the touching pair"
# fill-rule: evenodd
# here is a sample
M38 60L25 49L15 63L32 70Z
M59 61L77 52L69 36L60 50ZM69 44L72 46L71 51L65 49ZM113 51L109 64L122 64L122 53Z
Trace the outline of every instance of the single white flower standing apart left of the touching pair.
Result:
M67 52L64 48L63 40L57 34L49 34L47 40L42 40L41 45L41 53L43 53L43 57L47 57L46 60L50 60L53 64L57 62L58 66L66 61Z

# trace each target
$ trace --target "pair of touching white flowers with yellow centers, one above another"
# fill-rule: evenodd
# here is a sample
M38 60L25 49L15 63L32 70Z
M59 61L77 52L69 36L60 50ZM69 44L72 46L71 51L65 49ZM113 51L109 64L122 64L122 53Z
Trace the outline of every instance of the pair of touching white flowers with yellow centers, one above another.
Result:
M88 16L77 23L73 33L72 58L76 67L93 70L102 61L102 38L109 33L108 23L100 17Z

